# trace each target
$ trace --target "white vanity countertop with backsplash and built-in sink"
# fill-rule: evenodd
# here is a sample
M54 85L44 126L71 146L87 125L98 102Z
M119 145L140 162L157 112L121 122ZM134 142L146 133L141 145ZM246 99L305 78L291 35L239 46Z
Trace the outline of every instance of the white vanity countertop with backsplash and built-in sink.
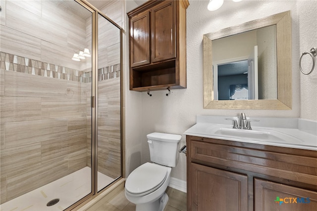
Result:
M297 118L257 118L252 130L232 129L230 116L197 116L197 123L184 134L229 141L317 151L317 122ZM269 127L271 125L271 127ZM273 127L272 127L273 126Z

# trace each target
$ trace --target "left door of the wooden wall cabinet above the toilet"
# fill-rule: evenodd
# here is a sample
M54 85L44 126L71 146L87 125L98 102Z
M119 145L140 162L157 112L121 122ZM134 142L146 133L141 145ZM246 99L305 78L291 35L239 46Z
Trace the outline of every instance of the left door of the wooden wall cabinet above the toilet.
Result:
M130 19L131 67L150 64L150 11Z

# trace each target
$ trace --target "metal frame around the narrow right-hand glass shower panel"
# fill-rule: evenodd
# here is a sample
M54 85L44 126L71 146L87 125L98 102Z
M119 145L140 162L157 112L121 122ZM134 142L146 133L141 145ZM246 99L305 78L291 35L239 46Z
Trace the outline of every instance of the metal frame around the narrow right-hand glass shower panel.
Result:
M76 208L81 204L88 203L94 196L101 194L106 191L115 181L123 178L123 80L122 80L122 56L123 56L123 33L124 30L112 21L109 17L107 17L102 11L97 9L94 5L89 3L86 0L74 0L79 3L84 8L88 9L92 12L92 96L91 96L91 108L92 108L92 126L91 126L91 193L85 196L84 198L77 201L72 206L65 209L65 211L70 211ZM104 187L101 191L98 192L98 14L103 16L107 21L112 23L115 27L120 30L120 157L121 157L121 176L116 178L110 185ZM97 106L96 106L97 105Z

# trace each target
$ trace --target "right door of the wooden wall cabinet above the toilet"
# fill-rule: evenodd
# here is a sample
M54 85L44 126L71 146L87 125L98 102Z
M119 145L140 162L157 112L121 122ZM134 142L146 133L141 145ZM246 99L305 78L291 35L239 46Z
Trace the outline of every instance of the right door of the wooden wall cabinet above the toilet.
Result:
M175 1L163 1L150 11L151 61L175 58Z

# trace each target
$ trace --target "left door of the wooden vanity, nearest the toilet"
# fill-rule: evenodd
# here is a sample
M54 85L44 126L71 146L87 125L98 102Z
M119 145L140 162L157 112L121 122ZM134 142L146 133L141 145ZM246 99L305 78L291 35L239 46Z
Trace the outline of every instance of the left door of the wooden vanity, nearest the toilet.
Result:
M248 210L248 177L191 163L192 211Z

